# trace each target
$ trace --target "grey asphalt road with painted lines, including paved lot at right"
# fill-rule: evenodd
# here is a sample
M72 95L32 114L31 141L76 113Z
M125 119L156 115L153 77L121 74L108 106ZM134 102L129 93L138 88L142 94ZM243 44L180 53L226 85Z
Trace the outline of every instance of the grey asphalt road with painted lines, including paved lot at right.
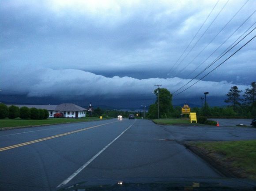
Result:
M0 131L0 191L54 191L85 180L222 177L182 144L256 139L255 128L103 120Z

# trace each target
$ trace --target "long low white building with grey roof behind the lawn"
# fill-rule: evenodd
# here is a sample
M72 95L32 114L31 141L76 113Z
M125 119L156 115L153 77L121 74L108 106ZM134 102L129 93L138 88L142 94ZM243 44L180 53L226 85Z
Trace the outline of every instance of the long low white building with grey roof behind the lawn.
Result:
M13 104L16 105L16 104ZM8 107L11 105L7 105ZM16 105L19 108L28 107L28 108L37 108L37 109L47 109L49 112L49 117L53 117L54 113L62 112L64 117L85 117L87 109L84 109L75 104L60 104L60 105Z

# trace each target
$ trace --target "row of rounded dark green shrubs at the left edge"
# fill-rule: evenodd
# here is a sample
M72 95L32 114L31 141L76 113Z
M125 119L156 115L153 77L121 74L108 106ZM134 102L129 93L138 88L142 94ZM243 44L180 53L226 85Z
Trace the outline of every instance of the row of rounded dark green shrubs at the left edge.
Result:
M31 120L44 120L49 117L49 112L46 109L36 109L28 107L19 107L11 105L9 108L7 105L0 104L0 119L4 118L15 119L20 117L21 119Z

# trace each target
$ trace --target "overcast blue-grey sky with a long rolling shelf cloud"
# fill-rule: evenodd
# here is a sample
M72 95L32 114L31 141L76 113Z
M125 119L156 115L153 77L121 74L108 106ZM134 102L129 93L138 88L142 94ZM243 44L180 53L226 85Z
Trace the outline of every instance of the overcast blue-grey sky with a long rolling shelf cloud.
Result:
M231 86L256 81L256 39L176 90L255 28L255 7L255 0L1 0L0 94L98 97L95 105L123 97L129 106L153 103L162 84L180 103L200 103L205 91L223 102Z

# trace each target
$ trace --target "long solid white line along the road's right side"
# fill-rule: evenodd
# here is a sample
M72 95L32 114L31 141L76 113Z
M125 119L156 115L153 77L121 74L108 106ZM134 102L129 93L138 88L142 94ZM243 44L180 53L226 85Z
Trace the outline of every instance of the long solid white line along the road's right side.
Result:
M136 120L133 122L133 124L135 124L135 122L136 122ZM100 150L97 154L95 154L94 157L92 157L89 161L87 161L83 166L81 166L77 171L75 171L71 176L69 176L66 180L64 180L62 183L60 183L59 186L57 186L57 187L61 187L61 186L68 184L68 182L70 180L72 180L76 175L78 175L79 172L81 172L85 167L87 167L96 157L98 157L100 154L102 154L102 152L104 150L106 150L113 142L115 142L121 135L123 135L125 131L127 131L130 127L132 127L133 124L131 124L123 132L121 132L120 135L118 135L113 141L109 142L109 144L107 146L105 146L102 150Z

